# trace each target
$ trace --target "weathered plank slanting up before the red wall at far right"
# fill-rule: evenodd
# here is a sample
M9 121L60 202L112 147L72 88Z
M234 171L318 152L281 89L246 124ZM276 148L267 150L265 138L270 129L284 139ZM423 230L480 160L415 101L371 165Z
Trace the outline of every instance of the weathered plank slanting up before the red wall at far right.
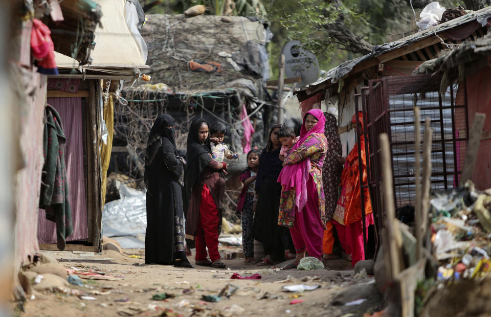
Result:
M469 141L467 143L467 152L465 153L464 168L460 177L460 185L465 184L468 179L472 178L474 167L476 165L477 152L482 137L482 127L486 120L485 114L476 112L472 121L471 131L469 131Z

